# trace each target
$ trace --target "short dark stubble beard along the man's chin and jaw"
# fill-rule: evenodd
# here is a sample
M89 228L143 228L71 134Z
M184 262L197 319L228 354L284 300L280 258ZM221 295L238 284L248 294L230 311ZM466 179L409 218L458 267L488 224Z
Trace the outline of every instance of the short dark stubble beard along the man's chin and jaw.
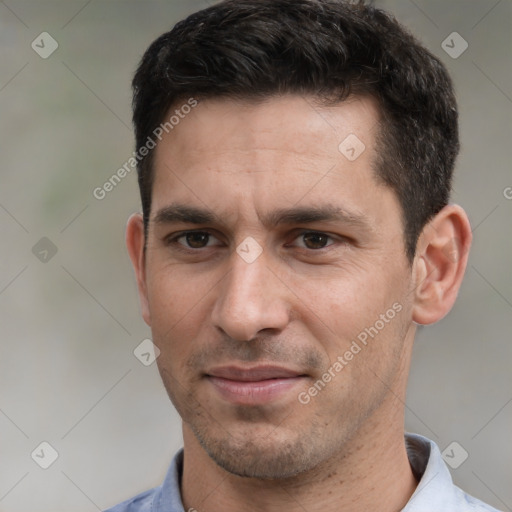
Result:
M331 395L329 400L325 395L306 405L292 402L290 407L295 408L291 412L276 412L263 406L233 406L236 408L230 421L220 414L215 417L199 403L194 383L184 388L160 365L159 370L183 422L219 467L240 477L281 482L297 477L299 481L304 473L309 478L320 476L324 469L335 467L349 454L351 441L390 392L400 367L400 349L395 347L395 357L383 368L376 394L360 396L355 379L348 388L338 390L345 395L341 403L339 398L335 400ZM375 374L368 374L370 380L372 377ZM333 414L333 407L338 414ZM329 425L331 422L336 425Z

